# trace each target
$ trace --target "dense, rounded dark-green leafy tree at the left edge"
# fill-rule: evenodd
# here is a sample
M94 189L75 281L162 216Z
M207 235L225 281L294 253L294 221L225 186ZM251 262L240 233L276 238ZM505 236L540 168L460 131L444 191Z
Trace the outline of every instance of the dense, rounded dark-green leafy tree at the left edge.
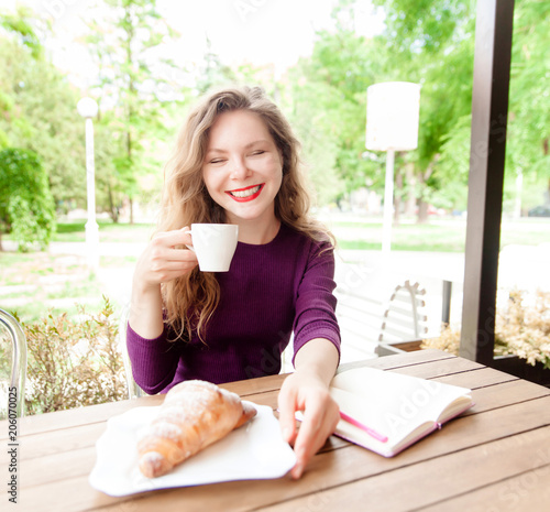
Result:
M0 151L0 237L2 232L11 232L23 252L35 242L45 250L55 232L47 174L31 151Z

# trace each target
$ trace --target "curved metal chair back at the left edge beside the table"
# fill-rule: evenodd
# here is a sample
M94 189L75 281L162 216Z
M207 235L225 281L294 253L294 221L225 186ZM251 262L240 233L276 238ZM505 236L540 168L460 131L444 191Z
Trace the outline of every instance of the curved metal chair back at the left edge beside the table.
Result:
M25 412L26 338L20 323L3 309L0 309L0 325L8 331L12 345L8 411L14 403L16 415L21 417Z

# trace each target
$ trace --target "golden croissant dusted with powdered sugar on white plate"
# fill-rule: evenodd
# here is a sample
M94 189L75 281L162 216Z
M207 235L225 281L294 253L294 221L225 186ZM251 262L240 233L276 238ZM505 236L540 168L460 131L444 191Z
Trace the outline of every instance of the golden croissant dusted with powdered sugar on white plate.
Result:
M235 393L206 381L184 381L168 391L138 442L140 470L147 478L165 475L255 414Z

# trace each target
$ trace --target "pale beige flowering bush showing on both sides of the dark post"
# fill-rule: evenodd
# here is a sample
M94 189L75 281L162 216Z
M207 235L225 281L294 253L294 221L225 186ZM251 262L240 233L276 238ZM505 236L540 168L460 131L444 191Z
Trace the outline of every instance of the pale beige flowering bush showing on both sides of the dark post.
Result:
M550 292L531 296L514 290L495 318L495 356L517 356L535 366L550 368ZM458 355L460 330L447 326L438 338L422 340L421 348Z

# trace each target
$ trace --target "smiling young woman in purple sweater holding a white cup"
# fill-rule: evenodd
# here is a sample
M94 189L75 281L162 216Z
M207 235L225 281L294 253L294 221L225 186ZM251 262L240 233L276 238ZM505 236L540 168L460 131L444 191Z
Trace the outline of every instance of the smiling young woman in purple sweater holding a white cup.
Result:
M299 478L334 431L328 393L340 357L331 238L308 215L298 142L260 88L226 89L190 112L166 170L157 233L134 273L128 348L147 393L187 379L229 382L295 372L279 422ZM200 272L193 222L239 226L229 272ZM299 429L295 412L302 411Z

